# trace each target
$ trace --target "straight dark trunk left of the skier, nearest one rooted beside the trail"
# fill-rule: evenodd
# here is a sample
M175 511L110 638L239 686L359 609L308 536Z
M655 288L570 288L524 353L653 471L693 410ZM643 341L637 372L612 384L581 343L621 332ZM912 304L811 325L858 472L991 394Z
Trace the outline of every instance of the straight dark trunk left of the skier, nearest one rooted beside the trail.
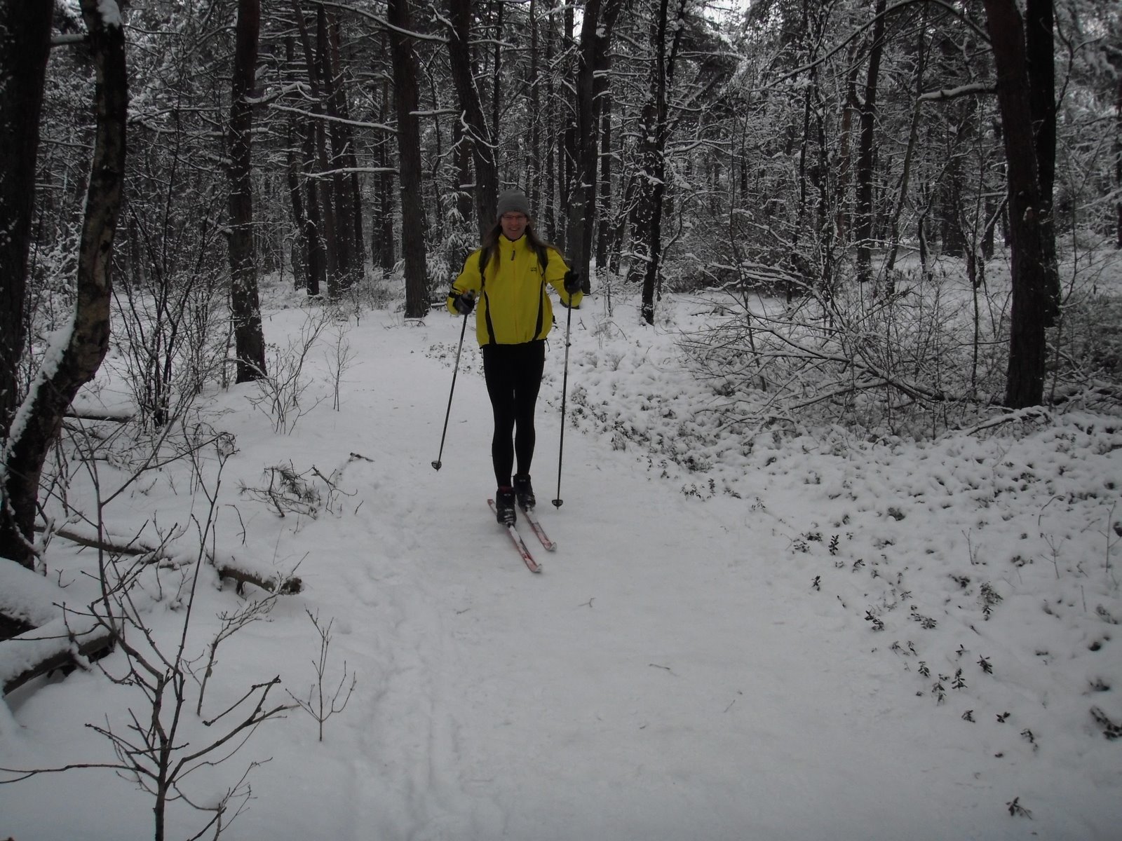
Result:
M402 257L405 260L405 317L429 312L424 253L424 205L421 201L421 128L416 110L417 61L404 33L411 28L408 0L388 0L390 50L394 58L394 101L397 107L397 169L402 197Z

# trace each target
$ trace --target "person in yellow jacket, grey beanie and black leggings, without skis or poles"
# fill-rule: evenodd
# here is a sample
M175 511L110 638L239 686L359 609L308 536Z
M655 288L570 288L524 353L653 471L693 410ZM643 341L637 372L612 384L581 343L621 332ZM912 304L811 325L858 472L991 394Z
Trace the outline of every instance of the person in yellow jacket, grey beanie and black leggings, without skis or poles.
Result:
M466 316L479 299L476 338L495 414L495 509L499 523L514 525L515 502L523 510L535 502L530 483L536 441L534 406L545 367L545 336L553 326L545 285L558 290L565 306L577 306L582 294L580 278L561 253L534 232L530 202L522 191L502 193L496 210L495 225L484 234L482 247L471 252L452 284L448 308Z

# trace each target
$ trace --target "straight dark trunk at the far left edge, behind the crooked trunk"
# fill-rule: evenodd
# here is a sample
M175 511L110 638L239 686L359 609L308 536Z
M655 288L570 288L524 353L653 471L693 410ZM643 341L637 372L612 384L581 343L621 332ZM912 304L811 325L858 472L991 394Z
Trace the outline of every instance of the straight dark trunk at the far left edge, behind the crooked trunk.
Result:
M53 10L49 0L0 3L0 438L8 436L20 398L35 161Z

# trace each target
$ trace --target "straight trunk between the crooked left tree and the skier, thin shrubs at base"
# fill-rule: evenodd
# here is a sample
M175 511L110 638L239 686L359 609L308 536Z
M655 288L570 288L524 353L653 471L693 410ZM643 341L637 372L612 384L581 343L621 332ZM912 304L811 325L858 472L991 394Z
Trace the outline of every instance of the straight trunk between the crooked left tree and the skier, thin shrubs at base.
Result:
M254 185L250 179L254 109L249 103L257 74L260 28L260 0L238 0L233 94L230 100L230 314L233 317L237 382L251 382L265 376L265 335L257 295Z

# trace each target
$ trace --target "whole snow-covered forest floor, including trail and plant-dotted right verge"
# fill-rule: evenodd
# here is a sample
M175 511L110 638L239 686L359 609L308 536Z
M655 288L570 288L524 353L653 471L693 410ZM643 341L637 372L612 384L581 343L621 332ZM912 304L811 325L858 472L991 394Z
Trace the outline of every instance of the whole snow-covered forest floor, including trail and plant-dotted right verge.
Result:
M573 316L560 489L563 321L552 335L533 474L559 548L526 530L541 575L486 508L490 412L470 331L443 466L430 465L460 336L445 313L329 327L287 434L251 407L254 386L210 396L206 417L236 436L214 554L296 569L304 589L222 644L204 717L274 676L306 700L309 613L331 622L329 691L342 682L341 702L357 678L323 741L293 710L188 777L211 803L263 763L222 838L1118 839L1122 739L1103 722L1122 723L1122 418L1028 417L922 443L711 425L691 437L714 401L677 345L698 307L666 298L652 329L634 303L609 320L594 297ZM269 312L267 340L287 346L305 318ZM334 410L340 342L353 361ZM103 495L119 466L101 463ZM264 491L282 466L319 493L305 502L318 516L278 515ZM117 535L148 521L155 543L153 523L186 524L192 505L205 517L183 466L153 475L107 507ZM88 484L70 490L79 508ZM93 553L56 539L46 558L81 603ZM190 569L142 580L165 643ZM218 584L208 569L193 658L242 601ZM123 657L103 663L119 674ZM129 706L145 714L96 669L6 701L7 767L111 763L86 724L126 732ZM186 715L192 745L213 739L193 699ZM0 838L142 839L150 808L111 770L40 776L0 786ZM182 804L171 816L168 838L202 823Z

